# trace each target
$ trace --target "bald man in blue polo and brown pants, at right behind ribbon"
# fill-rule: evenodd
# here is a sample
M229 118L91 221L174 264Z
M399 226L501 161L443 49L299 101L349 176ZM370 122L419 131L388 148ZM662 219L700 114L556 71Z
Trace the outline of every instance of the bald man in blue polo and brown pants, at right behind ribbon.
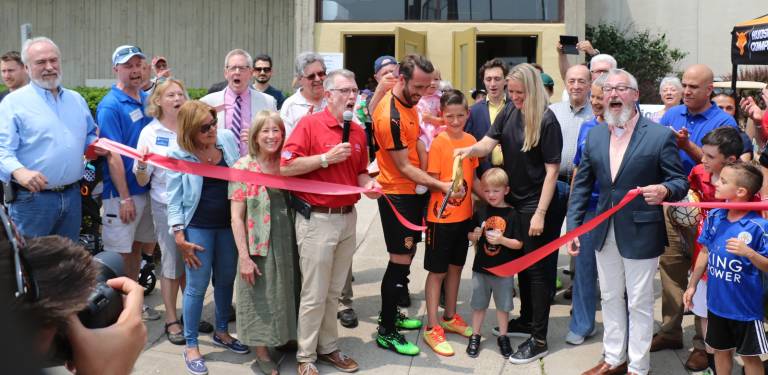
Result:
M661 124L672 128L677 135L680 159L686 175L701 160L701 140L710 131L721 126L738 128L733 116L723 112L710 100L713 73L706 65L692 65L683 73L683 103L670 108ZM667 218L667 216L664 216ZM688 284L688 270L691 267L690 254L696 240L695 233L686 228L673 226L667 221L669 245L659 260L661 274L662 325L651 343L651 351L680 349L683 347L683 292ZM681 238L682 236L682 238ZM696 335L693 351L685 367L691 371L707 368L707 354L696 317Z

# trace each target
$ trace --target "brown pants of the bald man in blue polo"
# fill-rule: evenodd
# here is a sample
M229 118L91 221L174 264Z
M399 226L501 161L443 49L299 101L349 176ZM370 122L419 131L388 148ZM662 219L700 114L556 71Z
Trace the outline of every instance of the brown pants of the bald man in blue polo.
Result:
M664 221L667 225L669 246L664 248L664 254L659 258L662 315L659 334L672 340L682 340L683 293L688 287L688 271L691 268L696 229L673 226L666 213L667 207L664 207ZM681 233L684 236L682 239ZM693 347L704 349L704 338L698 324L699 317L696 317L695 320L696 335L693 337Z

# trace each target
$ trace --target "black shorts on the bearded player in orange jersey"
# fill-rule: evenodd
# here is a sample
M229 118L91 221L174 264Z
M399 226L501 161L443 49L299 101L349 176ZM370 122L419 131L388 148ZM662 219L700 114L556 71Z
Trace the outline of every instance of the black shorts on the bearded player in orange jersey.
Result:
M395 205L397 212L412 224L421 225L424 217L424 207L427 205L429 194L391 194L387 195ZM392 254L414 254L416 244L421 242L421 232L411 230L400 224L392 207L383 196L378 199L381 226L384 230L384 243L387 252Z

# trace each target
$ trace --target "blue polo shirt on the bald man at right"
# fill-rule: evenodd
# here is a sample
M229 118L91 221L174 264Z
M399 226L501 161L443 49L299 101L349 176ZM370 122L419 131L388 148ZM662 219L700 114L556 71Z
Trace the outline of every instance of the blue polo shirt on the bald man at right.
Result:
M691 141L699 147L701 147L701 140L704 136L714 129L721 126L739 128L733 116L723 112L722 109L715 105L715 102L710 102L709 109L695 115L689 114L688 107L684 104L674 106L664 114L659 123L675 131L687 128ZM691 169L700 162L699 160L691 159L683 150L680 150L680 160L683 162L683 169L685 169L686 175L691 174Z

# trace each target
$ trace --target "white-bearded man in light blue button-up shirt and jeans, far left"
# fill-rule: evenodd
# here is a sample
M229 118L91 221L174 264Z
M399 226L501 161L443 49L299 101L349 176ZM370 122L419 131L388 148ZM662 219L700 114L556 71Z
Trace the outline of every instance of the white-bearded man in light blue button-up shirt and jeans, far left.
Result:
M32 82L0 103L0 180L11 186L5 200L24 236L77 241L83 153L96 140L96 124L83 97L61 86L53 41L27 40L21 58Z

